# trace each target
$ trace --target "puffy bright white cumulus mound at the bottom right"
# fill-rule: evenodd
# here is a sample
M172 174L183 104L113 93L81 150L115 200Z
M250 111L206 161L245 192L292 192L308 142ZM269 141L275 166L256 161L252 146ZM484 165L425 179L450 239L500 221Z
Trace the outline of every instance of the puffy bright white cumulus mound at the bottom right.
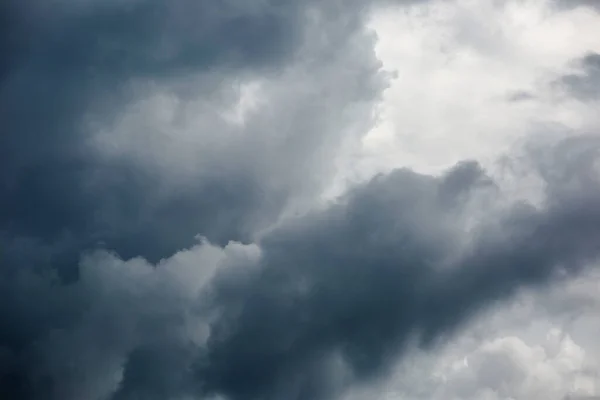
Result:
M459 347L455 345L456 347ZM569 335L547 331L540 342L496 336L448 352L435 363L415 361L418 383L404 380L374 398L548 399L588 398L598 366ZM408 368L408 366L406 366ZM431 377L423 378L429 369ZM406 374L406 371L398 371ZM564 394L568 393L568 394ZM354 394L349 398L361 398ZM367 397L365 397L367 398ZM591 397L593 398L593 397Z

